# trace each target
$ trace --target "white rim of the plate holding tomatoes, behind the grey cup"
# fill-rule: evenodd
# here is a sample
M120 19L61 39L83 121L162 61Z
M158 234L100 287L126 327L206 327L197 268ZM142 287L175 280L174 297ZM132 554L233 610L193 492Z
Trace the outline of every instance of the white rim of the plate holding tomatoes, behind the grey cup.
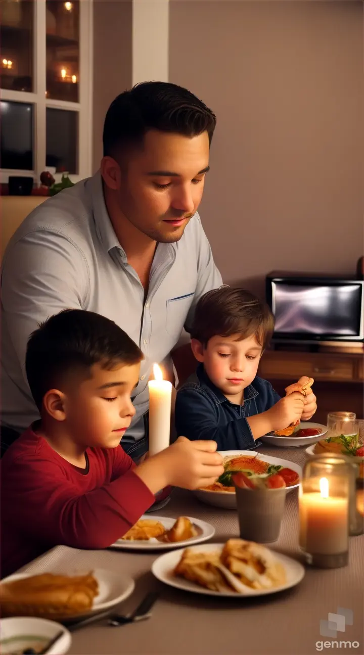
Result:
M255 455L254 451L219 451L220 455L223 457L238 457L238 455ZM293 471L299 474L302 477L302 468L299 464L295 462L290 462L287 459L281 459L280 457L270 457L270 455L264 455L264 453L257 453L257 458L268 462L268 464L276 464L276 466L284 466L291 468ZM286 491L289 493L292 489L299 487L293 485L292 487L287 487ZM214 507L221 507L224 510L236 510L236 494L234 491L205 491L204 489L197 489L193 491L194 495L202 502L207 505L213 505Z

